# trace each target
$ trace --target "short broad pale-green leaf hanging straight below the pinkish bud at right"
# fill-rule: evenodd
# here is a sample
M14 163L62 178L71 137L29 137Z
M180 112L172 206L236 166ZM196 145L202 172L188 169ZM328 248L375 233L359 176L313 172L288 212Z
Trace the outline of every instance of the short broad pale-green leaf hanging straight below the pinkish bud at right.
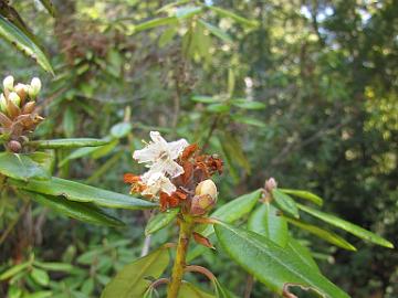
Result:
M248 228L285 247L289 240L287 223L279 212L270 203L261 204L249 217Z

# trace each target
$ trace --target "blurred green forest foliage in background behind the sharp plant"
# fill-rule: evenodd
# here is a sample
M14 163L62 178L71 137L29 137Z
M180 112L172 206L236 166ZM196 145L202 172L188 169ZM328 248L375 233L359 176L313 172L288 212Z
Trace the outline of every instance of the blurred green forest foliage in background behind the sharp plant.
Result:
M123 173L139 171L130 153L156 129L222 156L220 204L274 177L398 245L397 1L53 2L56 18L39 1L11 1L55 76L0 41L1 77L44 81L38 138L112 139L57 152L57 175L126 193ZM2 198L0 272L22 266L0 296L98 297L144 242L147 214L117 216L128 228ZM396 251L344 236L358 253L311 243L325 275L353 297L397 297ZM243 292L247 276L222 254L197 262ZM265 295L256 284L252 297Z

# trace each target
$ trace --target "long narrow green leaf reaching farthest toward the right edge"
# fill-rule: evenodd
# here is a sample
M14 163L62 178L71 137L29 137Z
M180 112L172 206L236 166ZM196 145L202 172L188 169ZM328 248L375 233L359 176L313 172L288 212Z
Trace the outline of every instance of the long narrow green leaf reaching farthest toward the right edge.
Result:
M353 224L350 222L347 222L345 220L338 219L335 215L332 214L327 214L325 212L302 205L302 204L297 204L297 206L302 210L305 211L306 213L328 223L332 224L334 226L337 226L344 231L347 231L348 233L352 233L353 235L366 240L368 242L388 247L388 248L394 248L394 244L390 243L389 241L380 237L379 235L376 235L375 233L371 233L356 224Z

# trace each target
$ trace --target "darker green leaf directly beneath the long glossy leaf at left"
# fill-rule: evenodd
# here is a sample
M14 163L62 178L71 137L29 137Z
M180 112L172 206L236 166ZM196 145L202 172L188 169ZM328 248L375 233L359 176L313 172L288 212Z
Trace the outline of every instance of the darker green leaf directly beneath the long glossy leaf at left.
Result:
M27 193L38 203L72 219L92 224L124 226L123 222L106 214L92 203L74 202L66 200L63 196L42 195L33 192Z

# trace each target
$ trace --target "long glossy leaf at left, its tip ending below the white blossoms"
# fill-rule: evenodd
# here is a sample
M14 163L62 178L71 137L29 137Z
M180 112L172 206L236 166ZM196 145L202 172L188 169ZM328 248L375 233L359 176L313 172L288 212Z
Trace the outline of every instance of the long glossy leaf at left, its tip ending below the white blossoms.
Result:
M71 201L94 203L105 207L142 210L157 206L155 203L139 200L130 195L102 190L55 177L45 181L30 180L28 183L10 180L10 183L15 184L23 190L54 196L60 195Z

